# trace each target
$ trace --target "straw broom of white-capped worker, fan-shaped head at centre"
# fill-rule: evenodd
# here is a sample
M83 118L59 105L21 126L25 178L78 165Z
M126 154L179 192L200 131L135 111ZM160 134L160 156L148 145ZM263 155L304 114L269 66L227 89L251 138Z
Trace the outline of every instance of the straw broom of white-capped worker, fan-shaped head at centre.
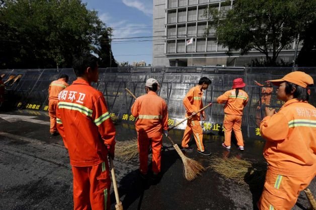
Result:
M125 90L136 99L136 96L128 88L125 88ZM183 175L187 180L192 181L198 175L200 175L202 171L205 171L205 168L199 162L186 157L179 148L179 146L175 144L175 142L171 139L170 136L167 136L167 138L171 141L173 147L181 157L184 169Z

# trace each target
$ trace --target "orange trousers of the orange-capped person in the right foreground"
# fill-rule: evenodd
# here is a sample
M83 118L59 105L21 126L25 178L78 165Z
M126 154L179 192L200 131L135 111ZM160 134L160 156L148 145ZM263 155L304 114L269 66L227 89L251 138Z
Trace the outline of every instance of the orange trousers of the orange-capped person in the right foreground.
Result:
M290 210L295 205L299 192L305 189L314 177L315 174L308 177L281 176L271 173L268 169L259 209Z

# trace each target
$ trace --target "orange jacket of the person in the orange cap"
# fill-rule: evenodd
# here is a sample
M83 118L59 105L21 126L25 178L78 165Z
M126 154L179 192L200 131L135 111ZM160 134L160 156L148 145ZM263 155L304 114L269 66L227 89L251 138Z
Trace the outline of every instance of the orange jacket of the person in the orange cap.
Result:
M260 124L267 140L264 157L269 169L286 176L310 176L316 172L316 109L307 102L288 100Z

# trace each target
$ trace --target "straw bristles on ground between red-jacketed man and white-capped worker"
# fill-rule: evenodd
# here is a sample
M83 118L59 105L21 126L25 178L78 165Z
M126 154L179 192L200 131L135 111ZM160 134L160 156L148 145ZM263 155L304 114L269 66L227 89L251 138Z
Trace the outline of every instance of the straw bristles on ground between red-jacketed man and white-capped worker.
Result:
M128 161L138 157L137 139L128 141L117 141L115 145L115 156L119 160Z

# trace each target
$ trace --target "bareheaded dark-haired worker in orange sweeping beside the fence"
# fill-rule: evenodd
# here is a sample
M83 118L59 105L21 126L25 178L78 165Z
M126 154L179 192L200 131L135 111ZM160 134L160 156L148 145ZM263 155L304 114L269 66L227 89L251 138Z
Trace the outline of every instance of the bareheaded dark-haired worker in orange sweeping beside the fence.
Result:
M207 77L201 77L198 85L192 87L183 99L183 105L186 109L186 118L193 115L191 119L187 121L187 127L184 131L181 146L186 150L193 150L192 147L188 145L191 135L193 133L195 143L197 146L198 153L202 155L211 155L211 152L206 151L203 145L203 130L200 124L201 115L202 119L205 120L205 112L202 111L197 113L203 108L202 96L203 90L206 90L212 81Z

